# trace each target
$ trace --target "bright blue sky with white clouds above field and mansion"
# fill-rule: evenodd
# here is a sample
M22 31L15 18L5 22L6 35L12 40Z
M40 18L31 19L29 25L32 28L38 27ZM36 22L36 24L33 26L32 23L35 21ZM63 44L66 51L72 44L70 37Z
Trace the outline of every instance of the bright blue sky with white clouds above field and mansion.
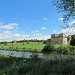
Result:
M54 33L75 33L75 20L66 26L52 0L0 0L0 41L48 39Z

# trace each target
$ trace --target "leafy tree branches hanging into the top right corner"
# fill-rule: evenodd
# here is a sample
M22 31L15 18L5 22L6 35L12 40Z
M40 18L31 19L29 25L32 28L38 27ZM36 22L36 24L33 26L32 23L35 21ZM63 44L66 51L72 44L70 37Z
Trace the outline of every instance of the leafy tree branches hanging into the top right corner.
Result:
M64 22L75 17L75 0L53 0L53 4L63 14Z

